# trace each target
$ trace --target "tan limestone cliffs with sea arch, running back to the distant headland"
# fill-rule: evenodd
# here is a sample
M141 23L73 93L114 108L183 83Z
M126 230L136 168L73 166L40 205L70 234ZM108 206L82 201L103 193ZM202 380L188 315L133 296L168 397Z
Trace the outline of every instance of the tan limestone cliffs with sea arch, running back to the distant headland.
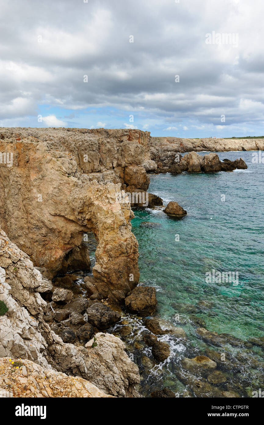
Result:
M50 277L77 263L89 268L81 241L85 232L94 232L95 281L126 293L139 280L138 243L121 190L146 192L147 172L168 171L177 152L263 149L263 143L157 138L128 129L1 128L0 224ZM12 154L12 164L2 153L9 159ZM153 196L150 206L162 204Z

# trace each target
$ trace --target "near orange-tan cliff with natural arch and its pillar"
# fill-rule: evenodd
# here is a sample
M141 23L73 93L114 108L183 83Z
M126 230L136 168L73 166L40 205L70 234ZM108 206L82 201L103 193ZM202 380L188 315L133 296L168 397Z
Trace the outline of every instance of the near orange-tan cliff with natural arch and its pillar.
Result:
M138 162L143 161L141 145L137 140L139 148L133 147L126 140L117 146L111 139L108 146L100 137L99 146L94 136L83 137L81 132L76 140L73 135L66 140L69 132L61 130L64 140L60 132L53 138L53 130L48 129L48 134L41 130L42 140L29 136L30 130L21 131L19 137L8 130L0 140L0 152L13 153L11 167L0 165L2 228L36 266L53 275L67 268L68 254L81 246L83 234L94 232L95 278L129 291L139 279L138 243L131 232L130 205L120 204L117 195L129 158L136 161L139 152Z

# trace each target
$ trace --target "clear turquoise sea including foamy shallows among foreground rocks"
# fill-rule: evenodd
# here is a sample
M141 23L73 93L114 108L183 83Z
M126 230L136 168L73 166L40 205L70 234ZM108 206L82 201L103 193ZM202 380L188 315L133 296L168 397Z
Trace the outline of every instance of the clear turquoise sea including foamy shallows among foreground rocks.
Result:
M211 390L207 395L207 390L194 395L192 385L184 383L186 372L181 366L183 357L211 357L206 352L208 348L224 351L232 364L241 354L251 359L240 363L240 371L225 372L227 382L216 385L221 391L231 389L240 397L252 397L252 391L263 385L261 348L253 346L248 350L228 343L220 348L205 343L197 337L192 317L194 314L203 320L200 326L210 331L242 340L264 335L264 164L252 164L251 152L219 153L220 159L240 156L246 161L247 170L150 176L149 192L163 198L165 205L177 201L187 210L184 218L171 218L162 210L134 209L132 231L139 244L139 284L156 287L156 316L182 327L187 334L186 340L171 334L159 336L158 340L169 343L171 354L163 363L157 363L151 348L142 341L143 334L149 331L140 317L124 312L121 322L109 330L125 341L129 357L138 365L140 393L144 397L164 386L180 397L215 397ZM225 202L221 201L222 195ZM146 227L143 221L158 226ZM176 234L179 241L175 241ZM94 265L93 235L90 244ZM206 283L205 273L212 269L238 272L239 284ZM201 301L206 301L208 308ZM163 322L163 329L167 325ZM126 336L121 333L123 326L131 329ZM149 366L143 364L146 357L151 360ZM261 362L259 366L253 367L252 359ZM221 370L221 366L218 368Z

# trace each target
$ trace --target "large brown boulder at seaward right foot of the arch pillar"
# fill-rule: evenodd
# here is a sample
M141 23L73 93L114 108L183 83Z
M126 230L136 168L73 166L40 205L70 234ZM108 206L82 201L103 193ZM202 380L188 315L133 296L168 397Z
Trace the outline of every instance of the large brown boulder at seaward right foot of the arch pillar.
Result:
M149 316L157 306L156 289L153 286L137 286L125 298L125 305L133 314Z

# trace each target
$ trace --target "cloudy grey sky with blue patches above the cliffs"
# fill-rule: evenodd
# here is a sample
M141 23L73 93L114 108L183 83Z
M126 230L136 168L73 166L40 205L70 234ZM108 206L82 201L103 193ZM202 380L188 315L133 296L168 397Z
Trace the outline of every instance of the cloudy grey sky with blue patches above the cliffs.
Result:
M0 126L264 135L263 18L263 0L0 0Z

